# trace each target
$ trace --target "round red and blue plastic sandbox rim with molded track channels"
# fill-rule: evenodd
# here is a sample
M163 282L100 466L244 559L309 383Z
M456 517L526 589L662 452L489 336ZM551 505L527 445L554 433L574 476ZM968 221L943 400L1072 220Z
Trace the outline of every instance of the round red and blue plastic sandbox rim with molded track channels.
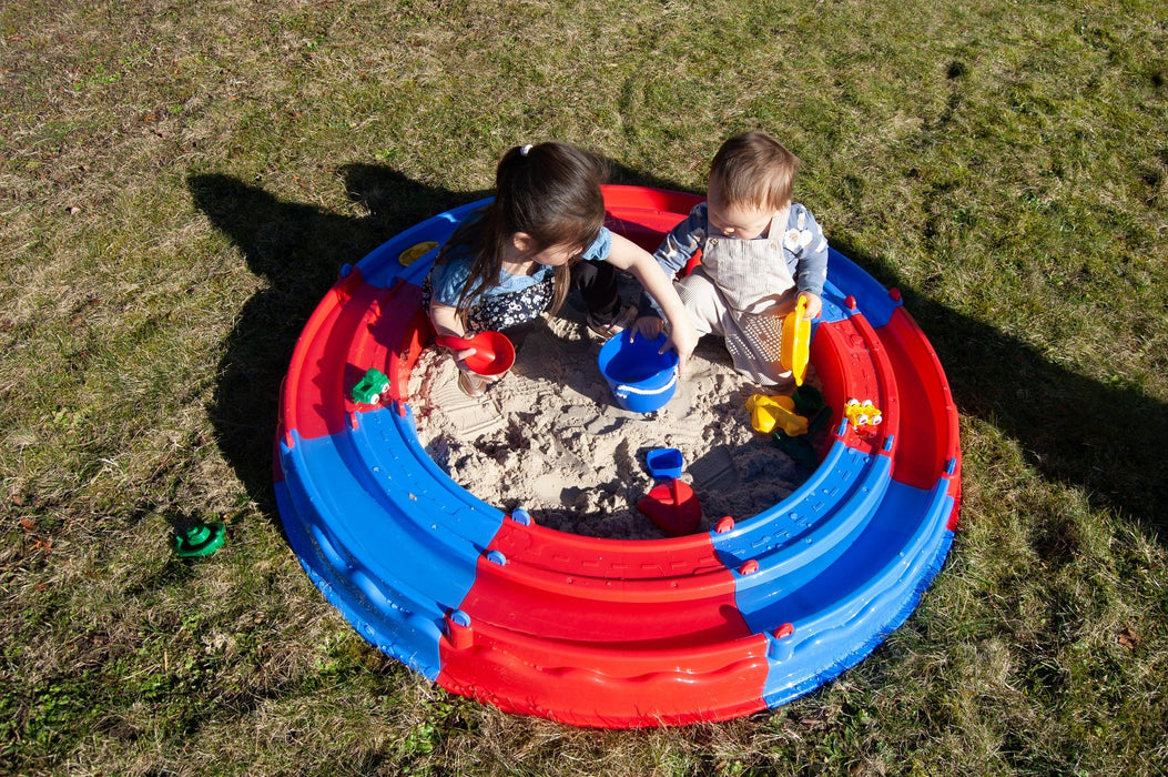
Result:
M605 187L610 228L649 250L697 201ZM346 268L285 381L280 516L310 577L366 639L501 709L631 728L778 707L909 617L953 537L961 456L945 375L895 291L830 254L809 355L833 428L787 499L667 540L564 534L457 485L415 433L409 375L433 338L420 284L436 247L481 204ZM381 404L353 398L369 369L388 379ZM857 433L851 397L883 423Z

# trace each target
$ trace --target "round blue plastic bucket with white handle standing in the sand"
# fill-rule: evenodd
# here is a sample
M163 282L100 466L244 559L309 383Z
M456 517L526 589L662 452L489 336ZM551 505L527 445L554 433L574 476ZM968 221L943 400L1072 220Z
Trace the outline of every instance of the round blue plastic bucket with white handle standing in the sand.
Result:
M658 353L666 337L647 340L641 335L630 341L626 329L609 338L600 347L600 374L609 381L617 404L633 412L653 412L673 397L677 388L677 352Z

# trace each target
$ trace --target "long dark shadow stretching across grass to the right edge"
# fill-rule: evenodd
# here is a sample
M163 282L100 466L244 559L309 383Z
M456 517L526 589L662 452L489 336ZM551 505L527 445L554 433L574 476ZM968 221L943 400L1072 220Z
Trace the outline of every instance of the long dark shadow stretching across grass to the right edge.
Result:
M1083 488L1168 541L1168 405L1136 388L1078 375L1033 346L901 284L888 263L834 244L885 286L937 351L958 410L1017 440L1048 481ZM1057 555L1057 554L1056 554Z

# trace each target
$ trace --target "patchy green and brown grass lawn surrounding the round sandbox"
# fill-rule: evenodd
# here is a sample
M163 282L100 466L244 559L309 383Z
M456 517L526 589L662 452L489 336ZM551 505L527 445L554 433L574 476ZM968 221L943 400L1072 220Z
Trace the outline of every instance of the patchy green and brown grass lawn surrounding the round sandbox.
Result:
M593 731L451 696L285 542L280 380L345 263L562 139L728 136L937 348L948 562L787 707ZM1168 763L1162 2L0 5L0 772L1149 775ZM178 557L176 528L228 526Z

